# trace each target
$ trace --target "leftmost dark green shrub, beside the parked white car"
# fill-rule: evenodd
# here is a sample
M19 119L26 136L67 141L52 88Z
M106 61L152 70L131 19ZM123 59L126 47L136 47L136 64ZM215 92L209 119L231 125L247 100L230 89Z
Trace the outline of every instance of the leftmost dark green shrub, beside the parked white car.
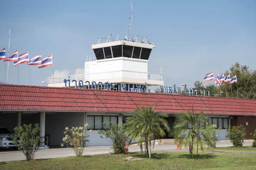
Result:
M39 124L35 124L34 127L32 124L15 127L12 140L16 143L18 150L26 156L27 161L34 159L40 141Z

